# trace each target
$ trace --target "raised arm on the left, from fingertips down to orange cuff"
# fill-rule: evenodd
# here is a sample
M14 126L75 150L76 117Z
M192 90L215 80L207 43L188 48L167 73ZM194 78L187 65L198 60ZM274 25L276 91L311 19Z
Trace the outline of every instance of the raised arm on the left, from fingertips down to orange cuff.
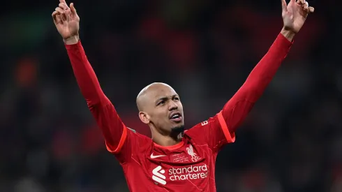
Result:
M73 3L70 3L69 8L66 1L60 0L59 2L59 6L52 13L52 17L59 34L61 34L66 44L66 50L77 84L87 101L89 110L101 128L108 151L117 153L124 144L127 128L117 115L112 103L103 93L83 50L78 36L80 17L77 15Z

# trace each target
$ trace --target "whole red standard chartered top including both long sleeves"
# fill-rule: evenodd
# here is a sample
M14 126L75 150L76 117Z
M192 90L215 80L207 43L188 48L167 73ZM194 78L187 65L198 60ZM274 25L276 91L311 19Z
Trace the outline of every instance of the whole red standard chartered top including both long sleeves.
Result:
M235 141L235 130L286 57L292 43L281 34L223 110L184 133L179 144L163 147L127 128L103 94L80 41L66 45L77 83L103 132L107 150L124 169L130 191L216 191L215 161Z

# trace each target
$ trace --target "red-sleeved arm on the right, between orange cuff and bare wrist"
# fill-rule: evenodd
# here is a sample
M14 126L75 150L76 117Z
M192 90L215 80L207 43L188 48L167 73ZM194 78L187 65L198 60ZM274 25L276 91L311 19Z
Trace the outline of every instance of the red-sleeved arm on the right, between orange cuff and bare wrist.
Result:
M292 45L290 39L292 40L293 36L290 33L283 35L284 33L285 31L282 30L267 54L262 57L248 75L246 82L225 104L222 114L231 133L234 133L239 124L246 118L287 56Z

